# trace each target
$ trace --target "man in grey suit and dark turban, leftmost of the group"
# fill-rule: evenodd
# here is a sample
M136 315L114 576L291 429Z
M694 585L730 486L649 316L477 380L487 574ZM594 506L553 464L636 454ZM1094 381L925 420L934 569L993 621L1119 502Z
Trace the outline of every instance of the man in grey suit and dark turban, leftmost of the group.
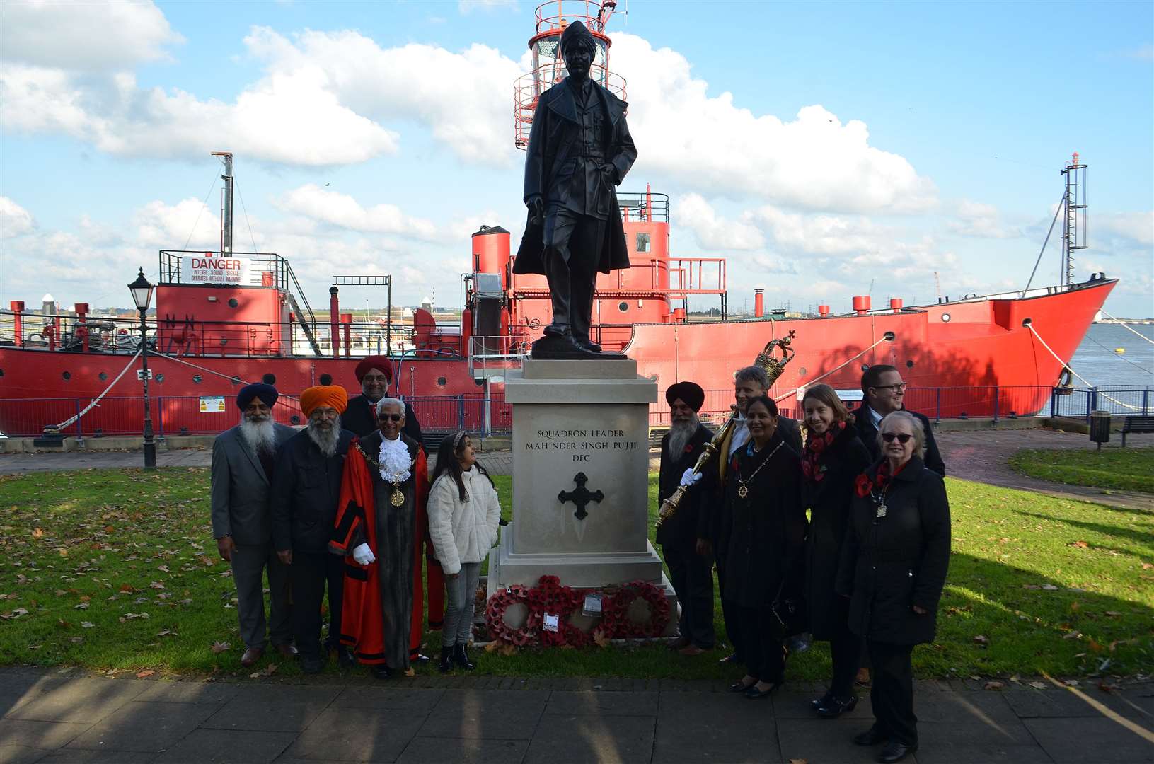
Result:
M269 507L276 450L297 434L272 421L277 389L255 383L241 388L237 407L240 424L220 433L212 443L212 535L220 556L232 564L237 585L237 614L246 668L264 656L264 569L269 571L272 644L292 657L292 612L288 606L288 567L272 548L272 512Z

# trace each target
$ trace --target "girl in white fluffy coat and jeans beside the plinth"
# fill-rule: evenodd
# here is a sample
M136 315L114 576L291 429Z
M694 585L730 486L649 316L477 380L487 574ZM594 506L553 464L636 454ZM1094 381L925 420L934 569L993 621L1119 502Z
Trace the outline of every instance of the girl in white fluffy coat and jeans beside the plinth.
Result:
M464 432L441 441L428 500L429 535L444 570L445 613L440 669L473 668L469 637L481 561L497 542L501 503L493 479Z

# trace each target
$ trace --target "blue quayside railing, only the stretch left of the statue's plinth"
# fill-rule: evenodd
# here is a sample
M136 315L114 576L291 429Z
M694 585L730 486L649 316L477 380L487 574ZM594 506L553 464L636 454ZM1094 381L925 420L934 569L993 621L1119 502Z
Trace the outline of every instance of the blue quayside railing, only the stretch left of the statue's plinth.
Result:
M233 395L149 396L153 432L157 437L223 433L240 421ZM299 396L299 391L282 395L272 407L273 419L283 425L305 425ZM512 410L501 392L403 397L413 406L421 429L430 434L465 429L489 436L512 429ZM8 437L39 436L45 425L72 419L89 403L89 398L0 399L0 433ZM143 409L143 396L105 397L63 428L61 435L81 440L141 435Z

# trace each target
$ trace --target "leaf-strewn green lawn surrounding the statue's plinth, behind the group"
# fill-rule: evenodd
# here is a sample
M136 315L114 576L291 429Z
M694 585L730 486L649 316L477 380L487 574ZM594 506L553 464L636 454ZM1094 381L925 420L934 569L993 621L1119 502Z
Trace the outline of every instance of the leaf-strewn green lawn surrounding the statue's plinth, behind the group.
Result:
M510 479L496 482L508 508ZM914 652L919 676L1148 672L1154 515L952 479L947 487L953 556L937 643ZM232 578L209 529L207 470L3 477L0 512L0 664L247 673ZM715 619L720 637L720 607ZM428 645L439 646L435 634ZM652 644L477 652L478 671L499 675L734 673L718 666L720 646L696 659ZM280 662L262 666L270 660ZM820 643L789 662L795 679L829 671Z

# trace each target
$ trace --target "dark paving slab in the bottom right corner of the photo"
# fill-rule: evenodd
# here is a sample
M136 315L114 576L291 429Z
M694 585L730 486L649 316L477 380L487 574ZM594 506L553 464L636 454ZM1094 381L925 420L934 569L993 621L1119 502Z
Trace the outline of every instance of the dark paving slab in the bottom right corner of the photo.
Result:
M1110 719L1024 719L1034 740L1056 764L1154 762L1154 743Z

